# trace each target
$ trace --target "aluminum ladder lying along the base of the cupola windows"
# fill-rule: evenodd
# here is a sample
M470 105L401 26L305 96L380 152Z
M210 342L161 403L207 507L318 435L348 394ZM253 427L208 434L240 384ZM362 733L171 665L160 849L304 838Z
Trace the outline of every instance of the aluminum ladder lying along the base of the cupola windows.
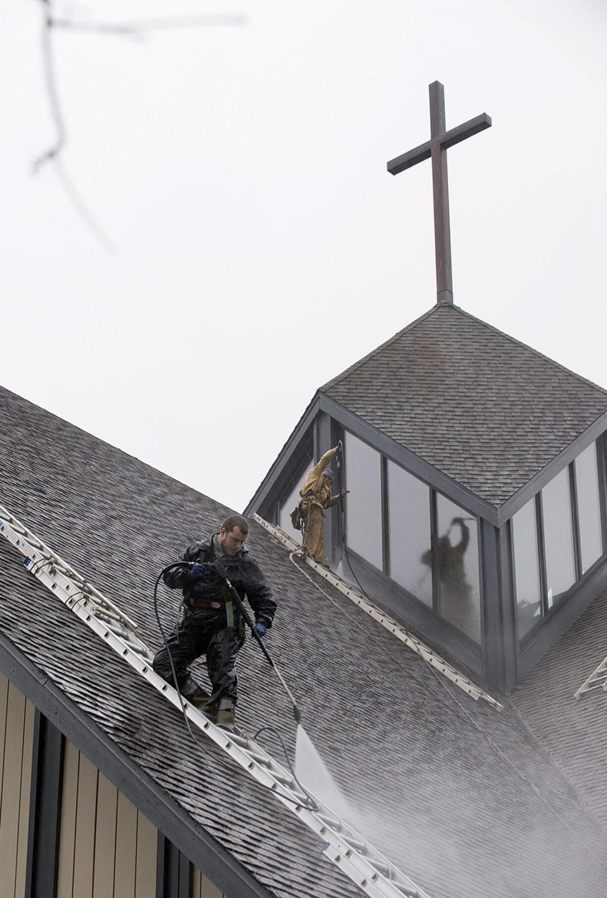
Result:
M280 527L277 527L275 524L268 524L267 521L264 521L263 517L257 515L256 513L253 515L254 521L257 524L261 524L268 533L272 533L274 539L282 542L282 545L288 549L292 554L301 550L301 546L299 542L291 539ZM444 658L441 658L435 651L433 651L429 646L427 646L421 639L418 639L416 636L413 636L407 629L404 629L400 623L394 621L386 612L381 611L381 609L377 608L376 605L369 602L369 599L360 594L360 592L351 586L351 584L347 583L342 577L338 577L337 574L332 570L328 570L323 565L318 564L313 558L310 558L309 555L303 559L299 556L300 560L305 560L308 567L313 568L323 577L327 583L330 583L335 589L338 589L340 593L347 596L351 599L351 602L357 604L363 611L367 612L370 617L372 617L377 623L380 623L382 627L387 629L393 636L397 639L400 639L401 642L412 648L412 650L419 656L421 656L424 661L427 661L428 664L434 667L440 674L447 677L447 680L454 682L456 686L458 686L462 691L466 692L470 695L475 701L479 699L485 700L488 704L490 704L491 708L494 708L496 711L503 711L504 706L499 704L499 701L495 700L489 692L481 689L480 686L477 686L472 680L469 680L468 677L464 676L464 674L460 674L458 670L453 665L450 665L448 661L445 661ZM308 576L308 575L306 575Z

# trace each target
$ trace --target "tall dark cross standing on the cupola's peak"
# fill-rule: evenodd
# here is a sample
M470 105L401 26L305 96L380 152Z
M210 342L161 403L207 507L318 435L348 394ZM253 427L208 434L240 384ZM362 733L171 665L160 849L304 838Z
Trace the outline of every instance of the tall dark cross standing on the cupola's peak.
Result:
M434 195L434 250L437 259L437 302L453 303L451 277L451 233L449 230L449 188L447 184L447 149L466 137L491 127L484 112L457 128L445 130L445 88L435 81L430 92L430 139L387 163L390 174L404 172L424 159L432 158L432 193Z

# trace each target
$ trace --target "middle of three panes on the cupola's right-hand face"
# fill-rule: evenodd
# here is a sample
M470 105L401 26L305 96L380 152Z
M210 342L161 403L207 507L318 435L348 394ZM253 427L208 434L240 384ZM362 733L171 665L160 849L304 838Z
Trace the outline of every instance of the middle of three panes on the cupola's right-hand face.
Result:
M544 549L548 607L576 580L571 524L569 471L565 468L542 489Z

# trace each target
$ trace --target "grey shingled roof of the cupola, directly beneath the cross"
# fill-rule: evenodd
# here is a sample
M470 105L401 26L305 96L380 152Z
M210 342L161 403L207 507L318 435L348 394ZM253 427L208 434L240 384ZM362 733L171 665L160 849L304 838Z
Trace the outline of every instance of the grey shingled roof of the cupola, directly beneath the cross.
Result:
M441 304L321 392L499 507L607 411L607 392Z

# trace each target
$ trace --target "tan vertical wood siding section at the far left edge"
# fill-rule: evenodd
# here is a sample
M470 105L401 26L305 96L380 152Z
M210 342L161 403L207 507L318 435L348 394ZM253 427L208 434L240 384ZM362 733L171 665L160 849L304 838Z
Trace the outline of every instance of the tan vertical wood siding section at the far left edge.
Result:
M30 822L34 707L0 674L0 890L23 898Z

